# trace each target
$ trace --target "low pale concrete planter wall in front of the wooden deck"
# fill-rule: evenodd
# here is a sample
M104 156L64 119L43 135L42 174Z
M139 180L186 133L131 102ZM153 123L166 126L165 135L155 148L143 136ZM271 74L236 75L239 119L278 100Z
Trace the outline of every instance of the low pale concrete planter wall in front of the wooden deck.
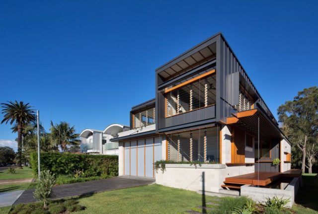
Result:
M244 185L240 188L240 195L247 196L259 203L262 203L263 201L266 201L267 198L272 198L274 196L277 196L278 198L283 197L284 199L290 200L286 207L292 207L294 204L295 196L298 193L299 187L300 178L296 177L284 190L251 187L249 185Z

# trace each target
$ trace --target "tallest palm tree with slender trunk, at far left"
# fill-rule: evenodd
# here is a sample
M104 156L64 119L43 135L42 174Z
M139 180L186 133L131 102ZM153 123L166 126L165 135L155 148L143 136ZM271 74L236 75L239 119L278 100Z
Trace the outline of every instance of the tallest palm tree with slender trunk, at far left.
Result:
M13 123L17 124L17 133L18 133L18 167L21 167L22 162L22 128L23 124L34 122L36 119L35 112L31 109L29 103L24 104L22 101L15 102L8 101L8 103L1 103L2 114L4 114L1 124Z

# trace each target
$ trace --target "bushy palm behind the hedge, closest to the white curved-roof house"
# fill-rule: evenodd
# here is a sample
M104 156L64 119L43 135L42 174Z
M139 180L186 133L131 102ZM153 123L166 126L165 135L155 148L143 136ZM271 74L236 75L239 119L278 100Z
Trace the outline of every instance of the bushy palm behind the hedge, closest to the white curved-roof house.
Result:
M79 145L79 134L75 133L74 126L70 127L67 122L60 122L60 124L53 124L51 121L51 138L53 142L60 146L63 151L68 150L68 145Z

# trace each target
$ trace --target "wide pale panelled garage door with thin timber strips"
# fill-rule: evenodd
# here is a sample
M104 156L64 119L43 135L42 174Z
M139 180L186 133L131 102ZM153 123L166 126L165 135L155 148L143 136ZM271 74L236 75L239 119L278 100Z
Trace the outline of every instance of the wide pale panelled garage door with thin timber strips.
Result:
M161 158L160 138L124 143L124 174L155 177L154 162Z

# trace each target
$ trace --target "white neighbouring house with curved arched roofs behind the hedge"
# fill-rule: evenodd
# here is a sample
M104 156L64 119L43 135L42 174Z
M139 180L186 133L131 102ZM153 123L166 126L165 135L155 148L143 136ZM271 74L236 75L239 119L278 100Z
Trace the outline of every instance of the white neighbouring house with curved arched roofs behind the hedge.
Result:
M128 130L129 127L120 124L111 124L104 131L85 129L80 137L80 152L89 154L118 155L118 143L112 142L119 132Z

